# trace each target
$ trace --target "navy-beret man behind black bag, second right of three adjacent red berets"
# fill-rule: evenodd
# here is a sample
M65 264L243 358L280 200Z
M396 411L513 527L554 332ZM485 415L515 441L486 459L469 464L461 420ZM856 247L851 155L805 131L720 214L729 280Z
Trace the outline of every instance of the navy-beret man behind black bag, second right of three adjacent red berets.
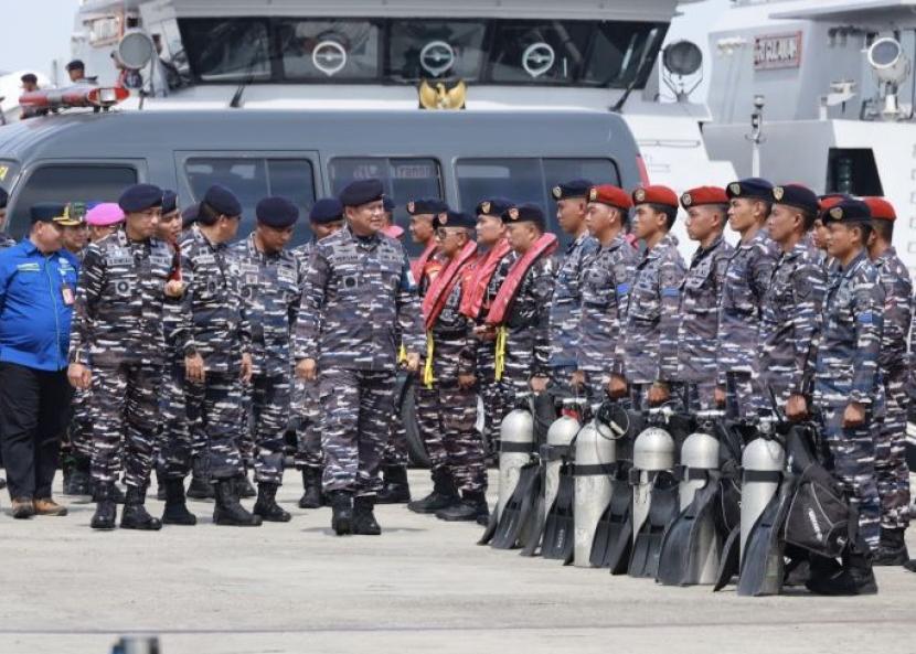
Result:
M767 230L780 255L760 315L760 388L766 400L776 398L790 420L801 420L808 416L827 292L827 274L808 238L818 215L818 196L799 184L785 184L773 189L771 202Z

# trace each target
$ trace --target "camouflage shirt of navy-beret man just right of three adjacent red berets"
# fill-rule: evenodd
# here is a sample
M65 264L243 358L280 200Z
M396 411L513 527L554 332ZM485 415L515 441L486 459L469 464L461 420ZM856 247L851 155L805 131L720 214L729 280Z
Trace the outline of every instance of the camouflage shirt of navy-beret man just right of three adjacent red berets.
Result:
M725 373L756 373L764 296L779 253L766 229L739 243L725 267L716 334L716 382Z

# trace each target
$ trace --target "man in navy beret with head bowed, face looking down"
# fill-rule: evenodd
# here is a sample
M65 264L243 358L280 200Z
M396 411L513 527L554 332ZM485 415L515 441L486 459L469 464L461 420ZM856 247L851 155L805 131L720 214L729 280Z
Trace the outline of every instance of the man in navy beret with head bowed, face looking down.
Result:
M299 265L286 245L292 238L299 210L286 197L265 197L257 203L255 217L255 230L232 248L238 266L242 313L252 330L254 513L268 522L285 523L291 516L277 504L277 490L283 484L284 436L289 422L289 343L301 298Z

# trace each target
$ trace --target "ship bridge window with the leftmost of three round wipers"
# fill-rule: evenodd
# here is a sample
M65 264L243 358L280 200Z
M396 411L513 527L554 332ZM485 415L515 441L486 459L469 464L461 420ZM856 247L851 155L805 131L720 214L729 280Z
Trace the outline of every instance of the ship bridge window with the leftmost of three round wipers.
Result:
M375 79L379 25L368 21L283 19L276 33L287 79Z

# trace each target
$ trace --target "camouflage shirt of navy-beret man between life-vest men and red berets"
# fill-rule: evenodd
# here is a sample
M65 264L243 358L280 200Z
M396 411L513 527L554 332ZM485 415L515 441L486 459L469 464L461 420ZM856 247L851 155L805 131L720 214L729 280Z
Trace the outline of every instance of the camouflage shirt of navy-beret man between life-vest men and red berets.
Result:
M566 253L556 280L551 300L551 362L552 368L576 365L576 347L582 315L582 285L588 258L598 251L598 242L588 233L581 234L566 246Z

